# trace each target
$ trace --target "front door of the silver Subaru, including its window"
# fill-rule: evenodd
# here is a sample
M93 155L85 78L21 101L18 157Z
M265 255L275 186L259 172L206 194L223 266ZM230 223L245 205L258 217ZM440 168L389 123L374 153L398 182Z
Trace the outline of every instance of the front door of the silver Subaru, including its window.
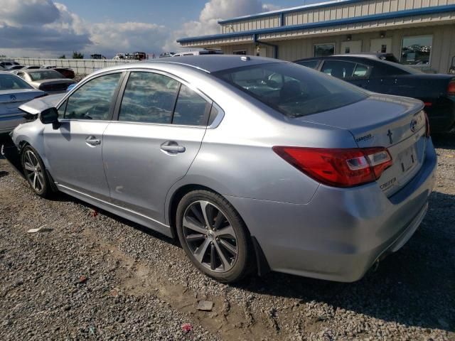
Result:
M109 200L102 134L112 119L122 77L117 71L88 80L58 107L60 126L45 125L45 156L59 186Z

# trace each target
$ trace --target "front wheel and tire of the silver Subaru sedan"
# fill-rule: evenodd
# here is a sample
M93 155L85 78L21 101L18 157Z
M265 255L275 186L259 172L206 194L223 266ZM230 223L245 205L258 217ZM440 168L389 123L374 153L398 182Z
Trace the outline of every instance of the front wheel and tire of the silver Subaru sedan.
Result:
M48 175L43 160L31 146L23 148L21 164L28 185L40 197L49 197L52 193Z

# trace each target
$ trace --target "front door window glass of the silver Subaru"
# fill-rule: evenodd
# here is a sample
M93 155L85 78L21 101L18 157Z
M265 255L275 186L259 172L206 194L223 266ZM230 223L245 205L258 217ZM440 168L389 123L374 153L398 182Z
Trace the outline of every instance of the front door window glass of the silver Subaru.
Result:
M120 77L121 73L113 73L82 85L68 98L65 119L108 119L112 97Z

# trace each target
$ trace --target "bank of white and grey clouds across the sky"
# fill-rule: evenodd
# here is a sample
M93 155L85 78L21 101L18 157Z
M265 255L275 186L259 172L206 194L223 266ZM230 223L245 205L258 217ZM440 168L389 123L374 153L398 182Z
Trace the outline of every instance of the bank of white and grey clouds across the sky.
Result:
M260 0L210 0L197 21L171 31L155 23L89 23L51 0L0 2L0 54L30 57L69 56L74 50L108 58L121 52L178 50L177 38L219 33L218 21L223 18L277 9Z

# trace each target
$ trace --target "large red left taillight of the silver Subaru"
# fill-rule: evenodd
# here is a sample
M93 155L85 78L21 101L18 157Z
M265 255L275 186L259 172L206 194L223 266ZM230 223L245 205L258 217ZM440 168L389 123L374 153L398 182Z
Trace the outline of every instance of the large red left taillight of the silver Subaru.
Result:
M353 187L378 180L392 166L387 148L302 148L274 146L273 150L299 171L334 187Z

